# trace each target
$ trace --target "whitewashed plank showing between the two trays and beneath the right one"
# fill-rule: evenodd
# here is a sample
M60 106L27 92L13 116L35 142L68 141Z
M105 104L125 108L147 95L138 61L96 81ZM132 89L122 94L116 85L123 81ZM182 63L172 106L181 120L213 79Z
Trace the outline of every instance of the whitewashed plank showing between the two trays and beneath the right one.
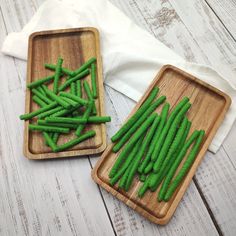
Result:
M110 138L128 116L130 111L128 109L135 103L128 98L124 100L122 94L107 86L105 102L106 112L112 116L112 123L108 126L108 138ZM126 111L125 116L124 111ZM96 161L91 158L93 165ZM102 193L118 235L218 234L194 184L191 184L173 219L165 227L150 223L107 192L102 190Z

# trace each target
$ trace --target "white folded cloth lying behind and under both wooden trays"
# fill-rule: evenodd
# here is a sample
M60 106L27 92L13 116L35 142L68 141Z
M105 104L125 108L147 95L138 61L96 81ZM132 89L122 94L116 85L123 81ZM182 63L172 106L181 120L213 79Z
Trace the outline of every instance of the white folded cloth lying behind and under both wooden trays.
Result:
M107 0L47 0L21 32L7 36L2 52L26 60L32 32L84 26L100 31L105 83L135 101L165 64L175 65L229 94L232 105L209 148L218 150L236 118L233 79L223 78L208 66L184 61Z

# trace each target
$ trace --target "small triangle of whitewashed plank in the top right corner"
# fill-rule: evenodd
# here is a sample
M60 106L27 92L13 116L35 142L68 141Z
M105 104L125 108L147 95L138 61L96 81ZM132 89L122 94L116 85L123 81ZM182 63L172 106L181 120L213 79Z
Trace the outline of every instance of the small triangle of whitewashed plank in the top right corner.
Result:
M206 2L236 40L236 1L206 0Z

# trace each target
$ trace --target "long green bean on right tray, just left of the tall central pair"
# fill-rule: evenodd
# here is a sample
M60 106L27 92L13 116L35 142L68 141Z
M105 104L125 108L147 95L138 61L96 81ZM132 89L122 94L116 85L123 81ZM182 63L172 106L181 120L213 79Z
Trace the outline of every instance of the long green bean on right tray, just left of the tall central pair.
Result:
M149 162L151 160L151 156L152 156L152 153L154 151L154 148L155 148L155 145L161 135L161 131L166 123L166 119L167 119L167 116L168 116L168 111L169 111L169 108L170 108L170 104L169 103L166 103L163 108L162 108L162 111L161 111L161 121L160 121L160 124L158 125L157 127L157 131L155 133L155 135L153 136L152 138L152 141L151 141L151 144L150 144L150 147L147 151L147 155L146 157L144 158L144 160L142 161L141 165L139 166L138 168L138 172L141 174L141 173L149 173L149 171L152 169L152 166L151 166L151 169L148 170L147 172L144 172L145 168L149 165ZM154 163L153 163L154 164Z

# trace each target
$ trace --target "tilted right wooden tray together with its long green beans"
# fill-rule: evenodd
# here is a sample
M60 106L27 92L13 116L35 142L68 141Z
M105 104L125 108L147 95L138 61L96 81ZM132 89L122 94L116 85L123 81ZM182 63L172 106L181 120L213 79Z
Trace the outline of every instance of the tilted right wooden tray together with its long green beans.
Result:
M178 68L164 67L111 137L94 180L149 220L166 224L228 109L227 99Z

